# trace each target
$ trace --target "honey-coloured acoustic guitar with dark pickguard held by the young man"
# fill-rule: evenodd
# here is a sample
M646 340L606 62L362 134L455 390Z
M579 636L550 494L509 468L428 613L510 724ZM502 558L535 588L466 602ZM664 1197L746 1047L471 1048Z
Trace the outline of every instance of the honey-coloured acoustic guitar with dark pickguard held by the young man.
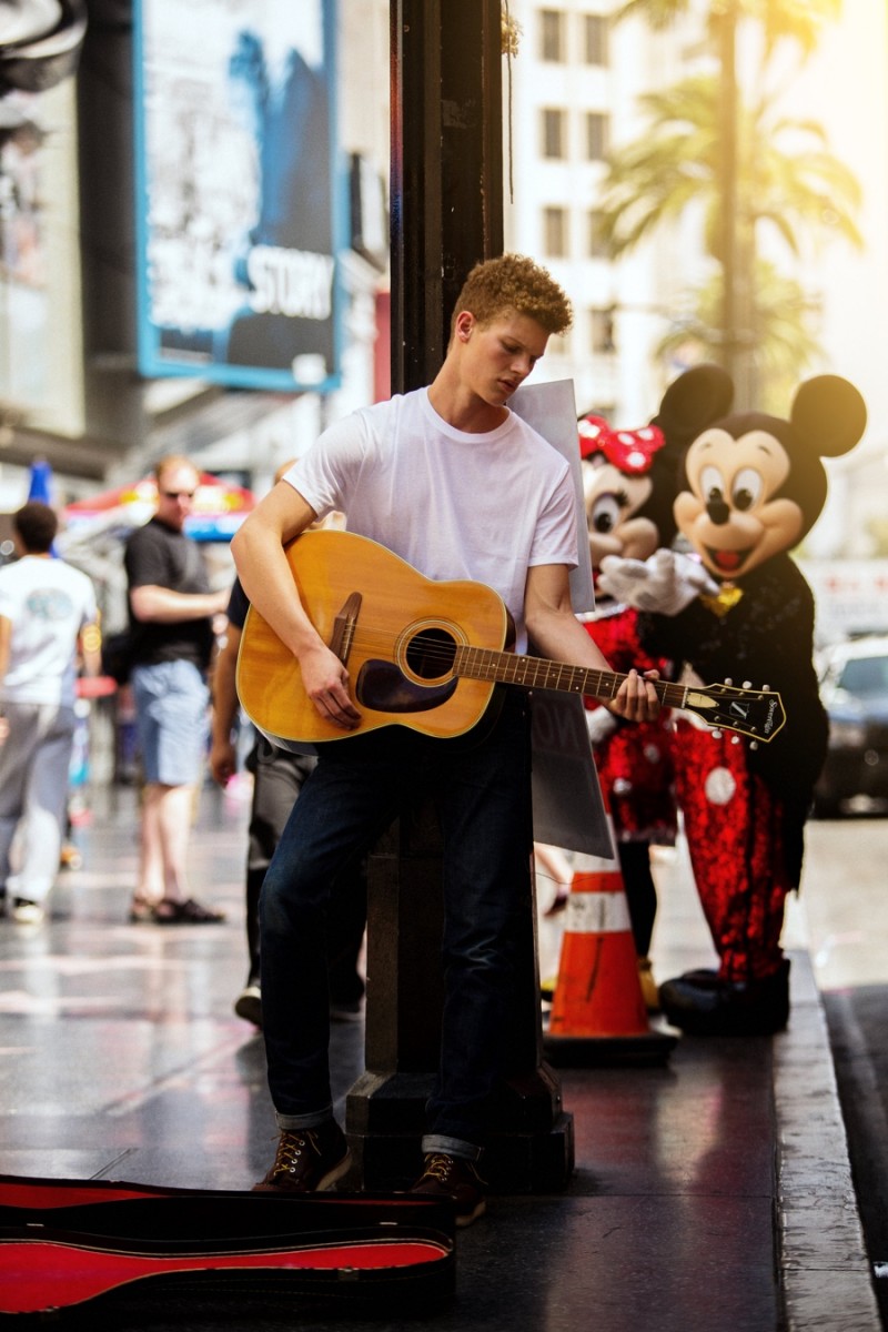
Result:
M297 659L250 606L237 691L257 729L285 749L395 725L453 738L481 721L497 685L612 699L626 679L510 651L514 625L491 587L435 582L366 537L305 531L286 546L286 558L312 623L349 670L362 719L343 731L317 713ZM770 690L666 681L654 687L664 706L752 741L774 739L785 722L780 695Z

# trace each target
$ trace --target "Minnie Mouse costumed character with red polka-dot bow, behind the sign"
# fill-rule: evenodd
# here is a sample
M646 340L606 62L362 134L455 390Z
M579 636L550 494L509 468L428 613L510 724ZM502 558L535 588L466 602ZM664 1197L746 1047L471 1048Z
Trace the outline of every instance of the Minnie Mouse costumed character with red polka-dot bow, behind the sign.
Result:
M667 678L671 663L642 647L635 607L600 594L600 562L607 555L647 559L670 545L680 454L707 421L727 410L731 394L731 381L722 369L696 366L670 385L656 417L639 430L615 430L591 413L579 421L596 581L595 611L584 625L614 670L656 669ZM672 846L676 835L670 713L663 709L655 722L623 726L595 699L587 698L586 707L595 766L611 811L642 994L647 1008L656 1011L659 996L648 956L656 918L650 847Z

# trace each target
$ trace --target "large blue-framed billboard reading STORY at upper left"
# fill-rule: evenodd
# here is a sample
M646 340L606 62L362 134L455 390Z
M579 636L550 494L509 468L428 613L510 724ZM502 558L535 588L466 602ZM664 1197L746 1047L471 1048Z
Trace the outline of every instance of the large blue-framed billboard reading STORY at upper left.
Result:
M142 374L338 384L334 4L136 0Z

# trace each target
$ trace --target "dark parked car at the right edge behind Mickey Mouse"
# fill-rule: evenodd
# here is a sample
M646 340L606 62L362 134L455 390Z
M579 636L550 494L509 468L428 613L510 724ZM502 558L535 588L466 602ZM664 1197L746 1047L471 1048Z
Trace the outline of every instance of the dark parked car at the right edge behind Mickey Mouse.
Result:
M820 658L820 697L829 715L829 750L815 787L820 818L844 801L888 801L888 637L852 639Z

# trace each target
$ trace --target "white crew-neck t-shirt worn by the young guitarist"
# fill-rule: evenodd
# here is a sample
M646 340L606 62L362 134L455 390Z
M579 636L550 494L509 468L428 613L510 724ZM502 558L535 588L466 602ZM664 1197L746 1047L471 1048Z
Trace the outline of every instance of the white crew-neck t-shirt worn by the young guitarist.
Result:
M286 473L318 517L393 550L427 578L495 589L525 651L531 565L578 561L574 484L564 458L510 412L485 434L449 425L417 389L333 425Z

